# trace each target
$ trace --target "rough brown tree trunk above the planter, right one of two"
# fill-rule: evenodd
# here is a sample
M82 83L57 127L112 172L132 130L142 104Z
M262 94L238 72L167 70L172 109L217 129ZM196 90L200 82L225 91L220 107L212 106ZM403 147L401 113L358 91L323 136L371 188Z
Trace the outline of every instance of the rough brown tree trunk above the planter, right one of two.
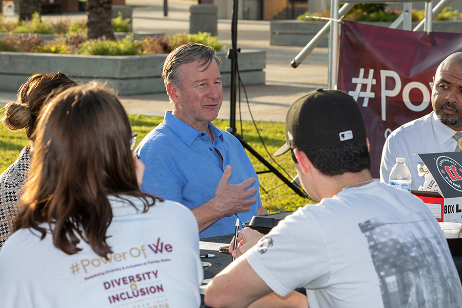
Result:
M114 40L111 24L112 0L88 0L87 16L88 38L98 38L104 35L109 40Z

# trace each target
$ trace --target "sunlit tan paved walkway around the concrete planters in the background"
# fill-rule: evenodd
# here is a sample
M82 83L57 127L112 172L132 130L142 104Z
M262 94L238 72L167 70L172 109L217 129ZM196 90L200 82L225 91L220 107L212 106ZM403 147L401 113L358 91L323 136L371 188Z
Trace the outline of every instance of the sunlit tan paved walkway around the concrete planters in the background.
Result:
M163 15L163 0L126 0L133 6L134 32L169 33L189 31L189 6L197 4L189 0L168 0L168 16ZM44 16L55 19L57 16ZM85 18L82 13L71 14L71 18ZM218 21L220 42L231 45L231 21ZM306 42L308 43L308 42ZM287 107L301 95L327 85L328 50L316 48L296 69L290 63L301 51L301 47L269 45L268 21L238 22L238 48L241 50L266 51L266 83L246 86L249 106L257 120L285 120ZM223 106L219 118L229 119L229 88L223 89ZM0 104L15 100L15 93L0 92ZM121 101L128 113L163 115L171 110L166 93L146 95L124 95ZM244 92L241 91L241 113L243 120L249 120ZM237 107L238 108L238 107Z

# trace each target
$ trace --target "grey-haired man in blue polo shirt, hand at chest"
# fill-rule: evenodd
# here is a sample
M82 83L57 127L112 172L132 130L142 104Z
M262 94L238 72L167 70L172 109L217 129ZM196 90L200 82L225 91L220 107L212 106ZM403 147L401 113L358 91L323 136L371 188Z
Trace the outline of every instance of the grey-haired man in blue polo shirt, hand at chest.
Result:
M223 102L220 62L196 43L168 55L162 77L173 110L137 148L146 165L141 189L191 209L201 238L231 234L236 218L266 214L240 142L210 122Z

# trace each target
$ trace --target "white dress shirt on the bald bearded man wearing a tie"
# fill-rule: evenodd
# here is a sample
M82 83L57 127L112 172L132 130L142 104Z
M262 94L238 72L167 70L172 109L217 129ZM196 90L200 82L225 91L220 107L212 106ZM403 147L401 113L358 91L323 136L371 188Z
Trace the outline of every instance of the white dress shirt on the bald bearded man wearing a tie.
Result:
M452 138L454 133L456 131L439 122L434 111L400 126L383 145L380 182L388 183L396 158L404 157L411 171L412 189L417 190L425 181L424 177L418 176L417 165L424 162L417 154L454 152L457 146L457 141Z

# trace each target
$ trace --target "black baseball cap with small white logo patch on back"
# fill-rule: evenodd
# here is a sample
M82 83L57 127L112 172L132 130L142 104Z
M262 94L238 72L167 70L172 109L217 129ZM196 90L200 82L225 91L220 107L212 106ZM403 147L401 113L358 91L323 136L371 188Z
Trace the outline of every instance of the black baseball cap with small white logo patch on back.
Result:
M285 117L285 140L275 153L290 149L337 147L366 138L361 110L351 95L317 89L296 100Z

